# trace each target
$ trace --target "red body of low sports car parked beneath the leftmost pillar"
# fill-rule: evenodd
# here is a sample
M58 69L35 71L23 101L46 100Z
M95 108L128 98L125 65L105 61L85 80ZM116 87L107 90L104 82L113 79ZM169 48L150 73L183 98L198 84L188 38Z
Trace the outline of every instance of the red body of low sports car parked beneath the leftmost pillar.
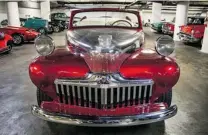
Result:
M12 36L13 34L20 34L23 37L24 41L32 41L39 35L39 33L33 29L14 26L0 28L0 32L4 32L10 36Z

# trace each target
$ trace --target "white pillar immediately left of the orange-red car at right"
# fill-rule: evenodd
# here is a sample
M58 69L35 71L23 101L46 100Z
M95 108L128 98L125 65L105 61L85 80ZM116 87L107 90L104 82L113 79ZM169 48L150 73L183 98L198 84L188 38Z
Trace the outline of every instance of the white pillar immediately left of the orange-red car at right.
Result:
M174 30L174 37L175 41L180 41L178 37L178 33L180 32L179 26L187 24L187 17L188 17L188 8L189 2L179 2L176 7L176 19L175 19L175 30Z

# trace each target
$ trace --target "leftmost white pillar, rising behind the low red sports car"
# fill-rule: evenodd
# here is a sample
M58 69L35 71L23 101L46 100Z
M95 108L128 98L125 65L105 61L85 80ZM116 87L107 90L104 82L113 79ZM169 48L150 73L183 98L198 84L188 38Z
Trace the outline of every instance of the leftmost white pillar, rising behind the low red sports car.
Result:
M20 26L18 2L10 1L7 5L7 18L11 26Z

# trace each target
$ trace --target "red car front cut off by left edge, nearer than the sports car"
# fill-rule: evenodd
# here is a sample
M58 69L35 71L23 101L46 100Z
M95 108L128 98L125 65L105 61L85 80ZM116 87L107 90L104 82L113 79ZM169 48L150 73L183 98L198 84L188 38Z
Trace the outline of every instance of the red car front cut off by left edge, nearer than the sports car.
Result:
M12 37L8 34L4 35L4 39L0 39L0 53L6 52L8 50L7 43L12 42Z

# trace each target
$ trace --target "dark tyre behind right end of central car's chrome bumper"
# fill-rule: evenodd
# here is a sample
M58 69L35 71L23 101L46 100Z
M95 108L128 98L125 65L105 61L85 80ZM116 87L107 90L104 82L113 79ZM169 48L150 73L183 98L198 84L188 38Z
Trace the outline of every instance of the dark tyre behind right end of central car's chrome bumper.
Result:
M172 102L172 89L169 90L167 93L164 93L162 96L160 96L157 101L157 103L164 102L170 107L171 102Z

